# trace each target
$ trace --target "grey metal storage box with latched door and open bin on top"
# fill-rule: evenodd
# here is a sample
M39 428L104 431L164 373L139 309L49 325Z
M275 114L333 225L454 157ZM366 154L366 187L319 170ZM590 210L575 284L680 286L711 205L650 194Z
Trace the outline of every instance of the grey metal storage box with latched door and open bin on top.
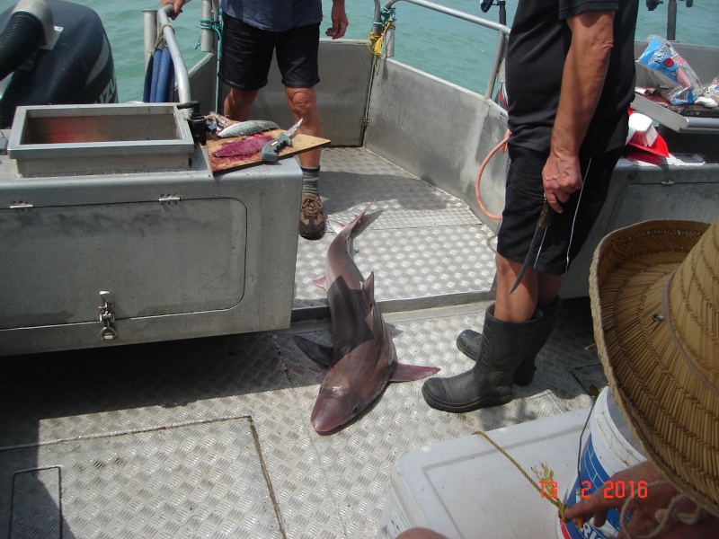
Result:
M18 110L0 163L0 355L289 325L294 160L215 176L166 104ZM136 140L133 124L164 127Z

